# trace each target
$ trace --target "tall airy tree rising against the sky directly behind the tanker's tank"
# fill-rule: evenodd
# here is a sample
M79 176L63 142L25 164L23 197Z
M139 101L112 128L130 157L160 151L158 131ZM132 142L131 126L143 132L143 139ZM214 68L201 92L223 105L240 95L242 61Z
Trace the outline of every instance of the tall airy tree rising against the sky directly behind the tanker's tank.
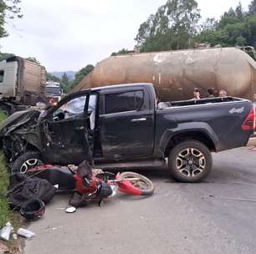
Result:
M199 19L195 0L168 0L141 23L135 38L136 49L146 52L191 48Z

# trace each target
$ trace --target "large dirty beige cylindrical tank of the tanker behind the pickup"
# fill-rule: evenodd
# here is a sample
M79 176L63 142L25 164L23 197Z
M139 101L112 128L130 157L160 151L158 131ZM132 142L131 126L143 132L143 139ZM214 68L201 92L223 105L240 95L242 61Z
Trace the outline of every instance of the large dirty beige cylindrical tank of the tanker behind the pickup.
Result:
M225 89L228 95L253 99L256 62L239 48L203 48L131 53L105 58L71 91L91 87L152 83L162 101L192 98L198 88Z

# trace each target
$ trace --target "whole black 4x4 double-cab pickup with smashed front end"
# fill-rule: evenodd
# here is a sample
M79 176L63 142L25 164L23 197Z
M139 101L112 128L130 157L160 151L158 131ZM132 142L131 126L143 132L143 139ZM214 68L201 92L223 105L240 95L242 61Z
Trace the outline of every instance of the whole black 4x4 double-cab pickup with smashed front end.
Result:
M211 152L246 145L254 128L247 99L157 104L152 84L122 84L70 94L44 112L14 113L0 135L13 171L42 162L141 168L167 161L175 179L196 182L212 169Z

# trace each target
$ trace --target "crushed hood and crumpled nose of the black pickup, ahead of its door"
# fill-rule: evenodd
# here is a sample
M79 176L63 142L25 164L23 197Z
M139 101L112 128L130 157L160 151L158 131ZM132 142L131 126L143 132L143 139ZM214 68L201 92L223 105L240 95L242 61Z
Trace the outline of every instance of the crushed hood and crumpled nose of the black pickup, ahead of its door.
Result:
M27 150L41 150L39 114L38 110L18 111L3 121L0 138L8 165Z

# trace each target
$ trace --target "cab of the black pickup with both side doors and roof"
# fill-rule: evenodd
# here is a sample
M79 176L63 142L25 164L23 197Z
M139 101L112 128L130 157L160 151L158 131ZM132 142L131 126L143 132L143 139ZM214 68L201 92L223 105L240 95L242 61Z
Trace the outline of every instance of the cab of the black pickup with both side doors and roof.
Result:
M40 119L48 128L45 160L78 163L89 152L84 146L90 147L95 161L151 158L155 107L151 85L111 86L76 93ZM75 155L74 151L70 153L71 147L75 147Z

